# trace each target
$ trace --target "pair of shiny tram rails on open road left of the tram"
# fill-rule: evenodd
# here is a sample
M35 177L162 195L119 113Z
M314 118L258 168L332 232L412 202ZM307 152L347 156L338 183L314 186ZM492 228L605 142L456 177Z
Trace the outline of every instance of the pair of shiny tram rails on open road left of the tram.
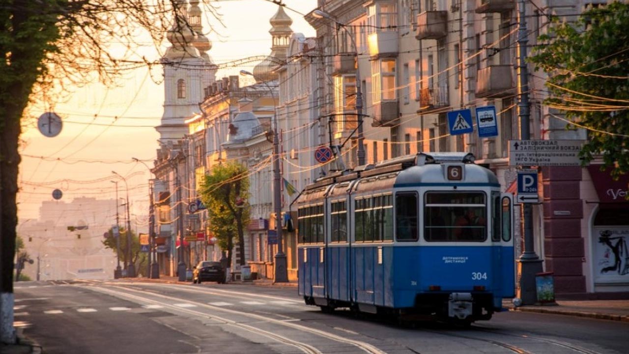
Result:
M241 329L245 329L247 331L250 331L252 333L256 333L262 336L265 336L266 338L270 338L272 340L276 340L279 341L281 343L287 344L287 345L291 345L295 348L298 348L300 351L302 351L303 353L308 353L308 354L321 354L322 352L320 350L318 350L315 346L309 345L308 343L303 343L301 341L296 341L296 340L292 340L290 338L286 338L285 336L281 336L277 333L272 333L270 331L265 331L264 329L260 329L260 328L255 328L253 326L250 326L248 324L244 324L244 323L238 323L237 321L233 321L231 319L228 319L226 317L223 316L217 316L214 314L208 314L206 312L201 312L201 311L195 311L189 308L182 308L182 307L178 307L175 306L173 304L170 304L168 300L170 301L177 301L177 302L186 302L189 304L193 304L196 305L198 307L202 307L204 309L211 309L213 311L217 311L217 312L222 312L222 313L226 313L226 314L235 314L238 316L245 316L248 317L250 319L255 319L257 321L264 321L266 323L272 323L272 324L276 324L279 326L284 326L286 328L291 328L297 331L301 331L304 333L308 333L308 334L316 334L317 336L320 336L322 338L326 338L328 340L332 340L332 341L336 341L338 343L343 343L343 344L347 344L347 345L352 345L355 346L357 348L359 348L361 351L364 351L365 353L369 353L369 354L386 354L385 351L380 350L379 348L377 348L374 345L371 345L369 343L366 343L364 341L359 341L359 340L352 340L349 338L343 338L342 336L338 336L337 334L333 334L333 333L329 333L326 331L322 331L320 329L315 329L315 328L309 328L307 326L303 326L301 324L297 324L294 323L292 321L287 321L286 319L274 319L272 317L267 317L267 316L262 316L260 314L252 314L252 313L248 313L248 312L243 312L243 311L237 311L237 310L233 310L233 309L225 309L224 307L218 307L218 306L213 306L213 305L209 305L209 304L204 304L203 302L197 302L197 301L193 301L191 299L186 299L186 298L181 298L181 297L174 297L174 296L170 296L170 295L164 295L164 294L159 294L159 293L155 293L155 292L148 292L146 290L139 290L130 286L126 286L126 285L109 285L109 287L104 287L104 286L100 286L100 287L90 287L91 290L97 291L97 292L103 292L105 294L109 294L109 295L113 295L115 297L121 297L121 298L125 298L125 299L131 299L134 300L136 302L148 302L150 304L157 304L157 305L162 305L168 309L172 309L174 311L177 312L184 312L187 314L191 314L193 316L198 316L198 317L205 317L208 319L213 319L214 321L219 321L220 323L229 325L229 326L233 326L236 328L241 328ZM129 292L133 292L135 294L129 294ZM139 294L139 295L138 295ZM156 299L152 299L151 297L158 297L160 299L164 299L164 300L156 300Z

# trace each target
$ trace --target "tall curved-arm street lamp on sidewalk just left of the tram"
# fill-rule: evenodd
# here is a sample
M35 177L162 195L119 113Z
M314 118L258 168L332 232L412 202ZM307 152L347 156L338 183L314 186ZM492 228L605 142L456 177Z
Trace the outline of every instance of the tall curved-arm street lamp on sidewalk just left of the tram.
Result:
M259 80L255 75L246 70L241 70L240 75L242 76L253 76L253 78ZM273 99L273 206L276 214L276 232L277 232L277 253L275 255L274 265L275 265L275 282L276 283L286 283L288 282L288 270L287 270L287 261L286 254L282 248L282 191L280 190L281 186L281 175L279 171L279 139L277 137L277 105L275 103L275 96L273 94L273 90L270 88L269 84L266 81L262 81L262 83L267 86L269 92L271 94L271 98Z

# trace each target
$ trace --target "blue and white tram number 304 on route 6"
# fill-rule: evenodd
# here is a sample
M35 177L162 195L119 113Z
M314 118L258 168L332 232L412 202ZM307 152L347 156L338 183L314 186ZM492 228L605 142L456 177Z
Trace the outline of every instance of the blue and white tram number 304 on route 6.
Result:
M514 296L513 202L472 154L332 174L294 204L306 304L470 323Z

